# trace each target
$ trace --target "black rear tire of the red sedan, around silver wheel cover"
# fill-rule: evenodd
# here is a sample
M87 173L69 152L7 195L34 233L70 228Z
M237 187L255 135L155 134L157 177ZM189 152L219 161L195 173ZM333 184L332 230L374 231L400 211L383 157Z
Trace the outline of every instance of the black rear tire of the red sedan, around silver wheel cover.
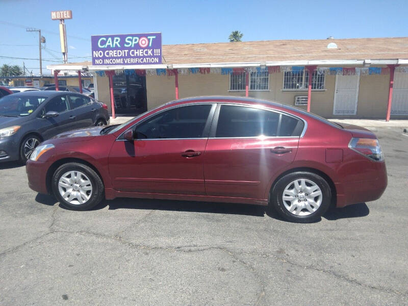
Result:
M284 196L285 189L289 186L293 186L295 188L294 184L293 185L289 185L289 184L291 184L292 182L296 180L299 180L299 182L301 182L301 180L306 180L304 182L308 188L312 186L310 182L316 184L320 188L321 195L322 195L320 199L320 206L318 206L318 208L317 206L314 207L314 205L309 206L309 209L312 208L314 210L317 208L317 210L314 211L313 213L310 212L306 208L298 209L296 207L297 206L296 202L299 202L299 205L303 203L301 202L301 200L308 202L308 200L304 199L305 194L307 193L303 193L302 195L302 191L299 191L299 193L295 195L296 199L294 200L295 201L294 206L292 206L291 201L284 201L283 196ZM301 196L303 196L303 198L300 198ZM319 200L318 197L313 198L313 199ZM277 211L277 213L281 215L284 219L291 221L291 222L298 222L298 223L310 223L310 222L314 222L320 219L320 217L330 207L330 203L331 203L331 190L326 180L324 180L323 177L321 177L320 175L316 173L304 172L304 171L289 173L281 177L281 179L279 179L273 186L271 190L270 201L269 201L269 205L272 206ZM293 208L295 210L292 213L289 211L289 209L293 209ZM309 214L309 215L296 215L299 212L300 214Z

